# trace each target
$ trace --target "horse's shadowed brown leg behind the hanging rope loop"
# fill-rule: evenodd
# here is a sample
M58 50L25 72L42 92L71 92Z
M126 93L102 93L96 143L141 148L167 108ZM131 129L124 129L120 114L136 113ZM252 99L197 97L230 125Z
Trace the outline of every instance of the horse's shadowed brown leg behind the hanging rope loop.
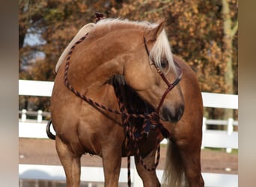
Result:
M152 150L146 157L144 157L144 164L147 165L147 168L153 168L155 166L155 154L156 150ZM141 165L139 156L135 156L135 165L139 177L143 181L144 187L159 187L160 183L156 177L156 170L147 171L143 165Z

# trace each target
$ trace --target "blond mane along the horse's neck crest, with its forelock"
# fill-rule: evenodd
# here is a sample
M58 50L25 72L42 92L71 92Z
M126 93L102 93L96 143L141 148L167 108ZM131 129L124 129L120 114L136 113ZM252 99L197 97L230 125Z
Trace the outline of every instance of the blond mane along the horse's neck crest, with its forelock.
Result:
M64 49L64 52L61 54L61 57L58 59L56 64L55 73L58 72L59 67L63 63L64 58L67 56L67 53L70 51L73 44L88 32L90 32L90 34L103 36L109 31L113 31L115 29L138 28L146 30L154 27L156 27L156 24L151 24L149 22L132 22L127 19L101 19L96 24L88 23L79 30L66 49ZM168 73L170 69L174 70L174 73L177 73L172 56L171 46L168 42L166 33L163 30L162 33L159 34L159 37L157 37L153 48L150 50L150 59L156 63L156 67L159 67L159 69L162 70L162 59L165 57L168 62L168 70L165 73Z

